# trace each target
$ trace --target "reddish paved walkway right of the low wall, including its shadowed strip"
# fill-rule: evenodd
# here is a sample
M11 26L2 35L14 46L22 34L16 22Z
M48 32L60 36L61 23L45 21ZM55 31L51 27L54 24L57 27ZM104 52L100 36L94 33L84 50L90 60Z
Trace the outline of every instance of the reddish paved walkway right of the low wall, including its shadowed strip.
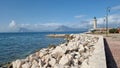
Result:
M120 34L105 37L108 68L120 68Z

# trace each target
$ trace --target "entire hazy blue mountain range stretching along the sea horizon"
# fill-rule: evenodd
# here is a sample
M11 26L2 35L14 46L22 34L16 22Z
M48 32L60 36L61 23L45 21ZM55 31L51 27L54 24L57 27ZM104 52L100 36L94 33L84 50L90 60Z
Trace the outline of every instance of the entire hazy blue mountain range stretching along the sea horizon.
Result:
M86 29L83 29L83 28L72 28L72 27L68 27L68 26L65 26L65 25L61 25L61 26L58 26L57 28L55 29L44 29L44 28L41 28L41 29L29 29L29 28L25 28L25 27L20 27L18 29L18 32L69 32L69 31L85 31Z

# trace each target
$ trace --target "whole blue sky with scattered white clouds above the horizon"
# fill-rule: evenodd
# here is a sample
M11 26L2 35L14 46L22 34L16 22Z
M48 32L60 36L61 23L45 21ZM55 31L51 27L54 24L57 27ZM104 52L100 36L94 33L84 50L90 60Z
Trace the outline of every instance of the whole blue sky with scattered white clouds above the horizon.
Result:
M61 25L90 29L94 16L98 27L105 27L108 7L109 27L120 27L120 0L0 0L0 32Z

